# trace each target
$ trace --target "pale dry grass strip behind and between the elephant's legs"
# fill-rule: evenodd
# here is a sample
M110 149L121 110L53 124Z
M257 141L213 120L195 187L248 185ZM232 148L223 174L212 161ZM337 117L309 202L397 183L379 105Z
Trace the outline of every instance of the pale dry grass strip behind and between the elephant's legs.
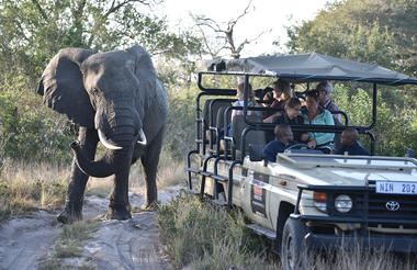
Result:
M185 165L162 153L157 176L158 188L173 185L185 179ZM12 216L36 210L56 210L65 202L70 166L18 162L7 160L0 170L0 225ZM132 166L129 191L145 193L140 162ZM112 178L91 178L86 194L108 198L113 189Z

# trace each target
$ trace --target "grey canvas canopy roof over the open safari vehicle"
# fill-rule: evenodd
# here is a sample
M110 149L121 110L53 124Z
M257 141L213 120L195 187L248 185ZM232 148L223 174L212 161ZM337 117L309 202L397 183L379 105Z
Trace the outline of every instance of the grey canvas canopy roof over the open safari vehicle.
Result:
M200 63L202 71L252 74L285 78L292 82L319 80L365 81L383 85L417 85L417 78L387 68L322 54L258 56Z

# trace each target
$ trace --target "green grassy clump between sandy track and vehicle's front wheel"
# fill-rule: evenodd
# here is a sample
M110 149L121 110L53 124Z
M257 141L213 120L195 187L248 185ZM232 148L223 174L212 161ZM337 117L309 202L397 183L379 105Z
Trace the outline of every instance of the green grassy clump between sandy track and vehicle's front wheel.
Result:
M176 267L198 269L274 269L263 247L245 227L239 212L227 212L181 193L161 205L158 226ZM192 237L190 237L192 236Z

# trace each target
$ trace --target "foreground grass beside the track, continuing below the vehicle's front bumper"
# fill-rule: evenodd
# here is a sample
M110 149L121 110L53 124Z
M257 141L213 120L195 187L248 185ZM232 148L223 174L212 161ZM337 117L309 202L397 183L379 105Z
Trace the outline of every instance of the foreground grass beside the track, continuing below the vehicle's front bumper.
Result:
M251 234L240 212L227 212L198 196L182 192L158 214L160 237L176 268L187 269L280 269L272 243ZM307 256L307 255L306 255ZM307 258L307 257L305 257ZM311 257L308 257L311 258ZM305 269L391 270L417 269L412 256L386 250L340 247L307 259Z

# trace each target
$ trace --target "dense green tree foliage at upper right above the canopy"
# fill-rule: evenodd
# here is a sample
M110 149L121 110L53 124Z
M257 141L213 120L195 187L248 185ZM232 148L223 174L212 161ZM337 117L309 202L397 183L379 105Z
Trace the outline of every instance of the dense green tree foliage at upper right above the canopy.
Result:
M288 27L286 46L416 76L416 11L414 0L336 1L314 20Z

